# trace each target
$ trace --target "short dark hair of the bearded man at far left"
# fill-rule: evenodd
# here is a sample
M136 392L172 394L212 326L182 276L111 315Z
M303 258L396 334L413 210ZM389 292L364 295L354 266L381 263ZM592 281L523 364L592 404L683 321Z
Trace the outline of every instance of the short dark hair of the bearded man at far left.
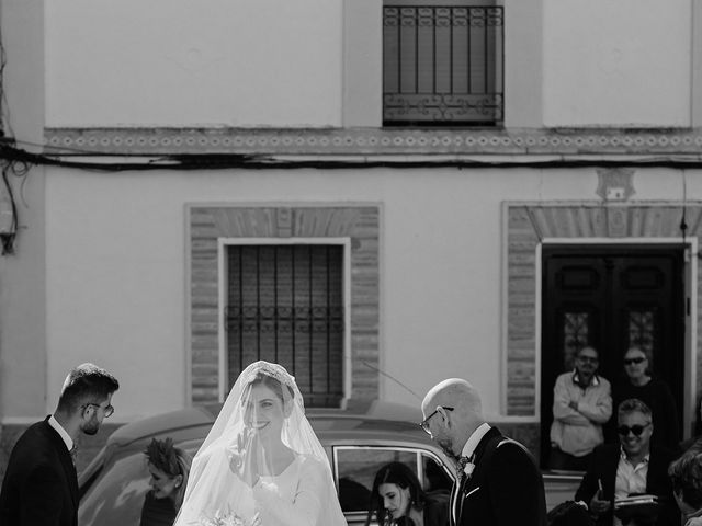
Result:
M58 409L73 412L86 402L102 403L117 389L120 382L105 369L93 364L81 364L66 377L58 398Z

